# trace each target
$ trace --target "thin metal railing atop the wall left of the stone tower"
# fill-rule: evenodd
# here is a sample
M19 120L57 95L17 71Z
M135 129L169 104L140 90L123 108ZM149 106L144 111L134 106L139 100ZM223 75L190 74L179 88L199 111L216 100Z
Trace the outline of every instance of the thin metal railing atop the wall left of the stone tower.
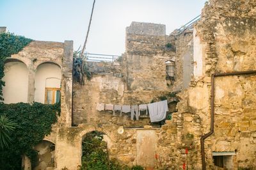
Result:
M109 54L93 54L89 52L84 52L86 55L87 61L94 61L94 62L114 62L120 56L116 55L109 55Z

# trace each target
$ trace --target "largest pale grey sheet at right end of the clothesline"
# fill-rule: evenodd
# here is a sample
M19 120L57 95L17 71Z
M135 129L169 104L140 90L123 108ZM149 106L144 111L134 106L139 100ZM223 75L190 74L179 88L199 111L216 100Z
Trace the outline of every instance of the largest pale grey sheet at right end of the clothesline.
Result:
M168 111L167 100L148 104L148 112L151 122L157 122L166 118L166 112Z

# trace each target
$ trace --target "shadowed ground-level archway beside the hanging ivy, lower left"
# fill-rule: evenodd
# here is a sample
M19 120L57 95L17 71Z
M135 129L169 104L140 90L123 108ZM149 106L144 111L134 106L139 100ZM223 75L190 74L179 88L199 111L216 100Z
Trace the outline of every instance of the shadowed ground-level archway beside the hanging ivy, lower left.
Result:
M38 151L38 156L33 170L54 169L55 144L42 141L36 144L35 150Z

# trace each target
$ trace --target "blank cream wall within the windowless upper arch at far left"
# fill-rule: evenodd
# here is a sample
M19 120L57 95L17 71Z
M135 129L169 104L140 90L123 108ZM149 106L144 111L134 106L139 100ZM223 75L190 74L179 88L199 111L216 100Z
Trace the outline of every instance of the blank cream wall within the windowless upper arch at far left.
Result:
M19 61L4 65L3 98L5 104L28 102L28 68Z

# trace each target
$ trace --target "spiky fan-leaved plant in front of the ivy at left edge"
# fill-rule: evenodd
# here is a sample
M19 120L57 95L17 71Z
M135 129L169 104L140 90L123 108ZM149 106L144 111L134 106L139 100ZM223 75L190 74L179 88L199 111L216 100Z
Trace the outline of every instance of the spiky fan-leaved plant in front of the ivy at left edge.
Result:
M12 141L10 132L17 127L17 123L10 120L6 115L0 116L0 146L3 149L4 146L8 147L8 144Z

